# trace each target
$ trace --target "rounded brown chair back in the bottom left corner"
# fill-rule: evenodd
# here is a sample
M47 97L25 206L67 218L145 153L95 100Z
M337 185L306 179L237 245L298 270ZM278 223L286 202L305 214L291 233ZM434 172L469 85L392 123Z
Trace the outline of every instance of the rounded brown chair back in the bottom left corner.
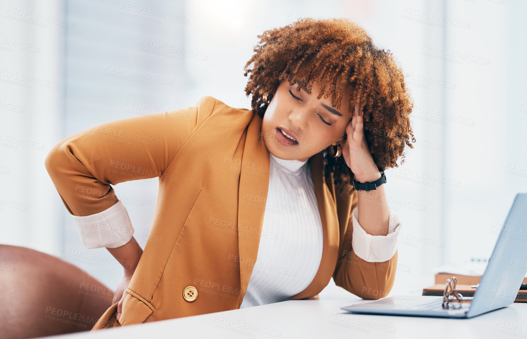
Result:
M90 331L112 298L113 290L61 258L0 244L2 338Z

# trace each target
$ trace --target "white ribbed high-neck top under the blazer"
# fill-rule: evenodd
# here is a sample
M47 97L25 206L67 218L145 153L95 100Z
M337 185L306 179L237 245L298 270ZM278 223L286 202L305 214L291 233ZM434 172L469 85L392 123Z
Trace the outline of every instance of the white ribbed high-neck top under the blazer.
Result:
M258 256L240 308L287 300L315 277L323 233L306 161L270 154L270 176Z

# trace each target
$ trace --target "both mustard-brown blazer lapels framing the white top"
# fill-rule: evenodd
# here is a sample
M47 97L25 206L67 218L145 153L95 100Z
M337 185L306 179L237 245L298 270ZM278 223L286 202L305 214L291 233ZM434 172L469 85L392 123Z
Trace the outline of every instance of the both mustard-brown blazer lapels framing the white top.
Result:
M260 234L269 189L270 155L261 133L262 118L255 114L247 128L243 147L238 192L238 246L240 255L240 298L238 307L249 285L256 263ZM291 299L301 299L318 294L333 275L338 256L339 229L337 207L324 176L321 153L309 159L324 234L324 247L320 266L313 281Z

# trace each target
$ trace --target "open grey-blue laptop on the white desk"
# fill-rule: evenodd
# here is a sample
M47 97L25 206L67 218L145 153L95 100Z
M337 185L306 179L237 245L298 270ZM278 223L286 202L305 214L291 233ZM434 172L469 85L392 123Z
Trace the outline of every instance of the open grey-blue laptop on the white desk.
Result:
M527 193L518 193L479 286L473 297L463 298L470 303L450 302L443 308L443 297L393 296L340 308L358 314L471 318L512 304L526 272Z

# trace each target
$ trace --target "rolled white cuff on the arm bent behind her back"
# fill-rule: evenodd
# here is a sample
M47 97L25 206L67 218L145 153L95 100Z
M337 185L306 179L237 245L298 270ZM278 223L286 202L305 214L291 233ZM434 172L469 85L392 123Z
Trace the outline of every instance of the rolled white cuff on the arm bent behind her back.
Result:
M87 249L123 246L133 236L128 212L121 200L102 212L89 216L73 216L82 243Z

